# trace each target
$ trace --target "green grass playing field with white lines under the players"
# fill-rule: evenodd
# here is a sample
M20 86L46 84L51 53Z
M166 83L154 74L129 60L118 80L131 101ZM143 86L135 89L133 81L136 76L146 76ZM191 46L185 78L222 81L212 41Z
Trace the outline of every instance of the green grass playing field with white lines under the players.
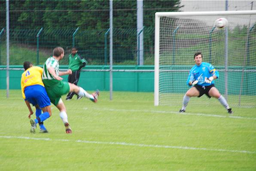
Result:
M179 114L180 106L154 106L153 93L113 92L110 101L101 92L98 103L64 101L73 134L55 106L49 133L31 134L21 91L0 94L1 171L256 170L255 108L229 116L195 98L202 104Z

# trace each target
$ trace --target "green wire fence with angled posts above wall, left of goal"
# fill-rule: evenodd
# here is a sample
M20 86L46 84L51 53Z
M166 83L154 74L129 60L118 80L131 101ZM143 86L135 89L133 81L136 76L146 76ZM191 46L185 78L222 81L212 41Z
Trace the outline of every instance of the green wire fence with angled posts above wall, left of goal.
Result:
M5 29L0 34L0 63L6 65ZM145 65L154 64L154 29L144 28ZM61 65L68 64L68 54L73 46L90 65L109 64L109 30L94 29L10 29L10 65L21 65L25 60L42 65L52 55L56 46L64 47L65 58ZM113 63L137 65L137 29L113 29Z

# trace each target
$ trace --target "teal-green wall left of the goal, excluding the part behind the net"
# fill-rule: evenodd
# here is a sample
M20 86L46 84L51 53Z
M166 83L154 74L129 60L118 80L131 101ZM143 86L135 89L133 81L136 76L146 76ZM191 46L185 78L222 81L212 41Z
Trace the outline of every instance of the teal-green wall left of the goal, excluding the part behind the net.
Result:
M42 66L40 66L42 67ZM0 66L6 68L6 66ZM10 68L23 68L22 65L10 66ZM61 66L60 69L67 69L67 66ZM85 69L109 69L109 66L86 66ZM154 69L154 66L113 66L113 69ZM23 70L9 71L10 89L21 89L20 81ZM68 76L64 75L64 81ZM85 90L109 91L110 74L104 71L85 71L81 72L78 85ZM6 89L6 70L0 70L0 89ZM114 91L154 91L154 73L153 72L113 72L113 90Z

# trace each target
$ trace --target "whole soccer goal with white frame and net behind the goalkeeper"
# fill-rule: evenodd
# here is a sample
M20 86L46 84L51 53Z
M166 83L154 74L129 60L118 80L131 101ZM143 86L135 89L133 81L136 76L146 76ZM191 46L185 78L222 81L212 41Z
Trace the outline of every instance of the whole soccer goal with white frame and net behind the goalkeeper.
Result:
M218 18L229 21L225 29L214 26ZM215 86L230 106L256 106L256 10L156 12L155 106L182 105L195 52L219 71Z

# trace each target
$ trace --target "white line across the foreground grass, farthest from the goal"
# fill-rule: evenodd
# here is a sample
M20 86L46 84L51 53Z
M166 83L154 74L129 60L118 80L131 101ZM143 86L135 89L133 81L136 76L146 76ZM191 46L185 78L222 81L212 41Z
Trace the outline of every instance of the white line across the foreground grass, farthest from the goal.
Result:
M226 149L197 148L197 147L183 147L183 146L170 146L170 145L133 144L133 143L126 143L126 142L98 142L98 141L86 141L86 140L34 138L34 137L24 137L24 136L0 136L0 138L2 138L2 139L27 139L27 140L40 140L40 141L77 142L77 143L85 143L85 144L107 144L107 145L124 145L124 146L135 146L135 147L173 148L173 149L181 149L181 150L205 150L205 151L219 151L219 152L229 152L229 153L256 154L256 151L247 151L247 150L226 150Z

